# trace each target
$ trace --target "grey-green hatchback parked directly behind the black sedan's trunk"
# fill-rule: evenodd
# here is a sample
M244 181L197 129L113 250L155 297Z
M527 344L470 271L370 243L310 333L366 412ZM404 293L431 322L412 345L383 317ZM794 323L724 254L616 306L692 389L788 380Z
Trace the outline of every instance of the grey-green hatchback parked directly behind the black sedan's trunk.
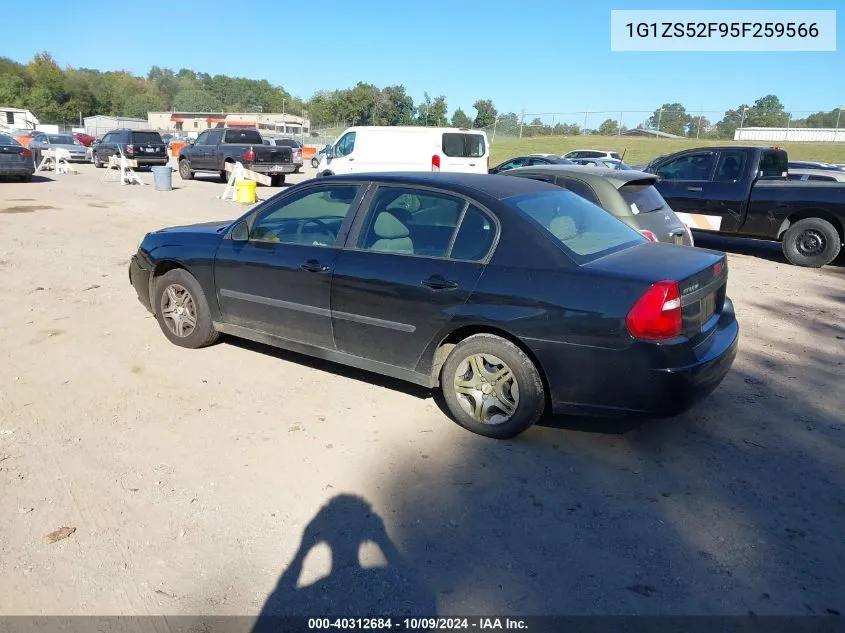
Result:
M655 189L657 177L634 170L548 165L506 172L563 187L600 206L653 242L693 246L692 232Z

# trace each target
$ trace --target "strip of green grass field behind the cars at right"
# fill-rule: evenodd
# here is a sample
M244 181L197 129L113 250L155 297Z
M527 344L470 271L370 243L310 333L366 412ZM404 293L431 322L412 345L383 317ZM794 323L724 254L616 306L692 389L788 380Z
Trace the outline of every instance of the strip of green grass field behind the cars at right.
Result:
M490 143L490 166L513 156L535 152L565 154L573 149L605 149L625 152L625 162L639 165L660 154L670 154L690 147L707 145L777 145L796 160L845 163L845 143L768 143L765 141L703 141L696 139L653 139L625 136L543 136L534 138L497 138Z

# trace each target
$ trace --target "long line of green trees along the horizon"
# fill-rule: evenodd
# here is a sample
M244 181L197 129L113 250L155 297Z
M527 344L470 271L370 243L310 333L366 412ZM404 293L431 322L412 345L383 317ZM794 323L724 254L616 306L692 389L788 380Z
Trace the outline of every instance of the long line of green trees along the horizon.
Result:
M405 86L379 88L358 82L351 88L318 91L308 100L291 95L267 80L209 75L187 68L174 71L153 66L146 77L125 71L62 68L49 53L38 53L26 64L0 57L0 105L27 108L41 121L70 123L80 115L107 114L145 118L147 112L290 112L311 119L312 126L346 125L453 125L495 129L502 135L572 136L595 133L613 136L624 132L619 121L606 119L596 129L578 124L523 120L514 112L499 114L490 99L473 104L474 116L457 108L448 115L444 95L425 93L415 104ZM733 138L744 127L834 127L837 109L794 119L775 95L727 110L713 123L688 111L681 103L664 103L638 127L699 138ZM845 117L842 117L845 119ZM845 124L845 121L842 121Z

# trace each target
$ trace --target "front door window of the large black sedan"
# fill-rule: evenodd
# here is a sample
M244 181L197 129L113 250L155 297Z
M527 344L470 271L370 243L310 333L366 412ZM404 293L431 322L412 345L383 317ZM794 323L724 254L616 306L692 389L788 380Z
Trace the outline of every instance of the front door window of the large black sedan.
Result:
M263 209L249 232L251 242L333 246L359 185L313 187Z

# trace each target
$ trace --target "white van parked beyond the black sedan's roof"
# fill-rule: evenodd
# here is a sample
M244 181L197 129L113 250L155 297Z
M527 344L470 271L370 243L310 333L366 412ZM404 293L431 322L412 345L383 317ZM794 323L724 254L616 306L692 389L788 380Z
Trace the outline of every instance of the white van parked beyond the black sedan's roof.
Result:
M450 127L348 128L321 154L318 176L378 171L447 171L486 174L490 157L481 130Z

